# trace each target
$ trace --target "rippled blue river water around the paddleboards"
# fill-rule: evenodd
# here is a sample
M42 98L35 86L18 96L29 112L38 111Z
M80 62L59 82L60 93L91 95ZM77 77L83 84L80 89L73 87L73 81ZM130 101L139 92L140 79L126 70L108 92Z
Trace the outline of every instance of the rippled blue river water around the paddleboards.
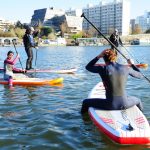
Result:
M63 77L63 87L22 87L9 90L0 85L0 149L76 150L120 149L137 150L142 146L120 146L112 143L82 116L82 100L100 80L99 75L85 70L85 65L106 47L43 47L37 51L36 68L68 69L77 67L75 75L37 73L39 78ZM8 50L0 48L0 66ZM140 62L150 64L149 47L127 47ZM26 54L17 47L25 67ZM15 51L14 51L15 52ZM34 50L36 53L36 50ZM35 56L35 54L34 54ZM33 61L34 65L35 60ZM17 63L17 67L20 64ZM150 70L141 70L150 78ZM1 74L2 76L2 74ZM144 114L150 119L150 83L129 78L128 94L142 99Z

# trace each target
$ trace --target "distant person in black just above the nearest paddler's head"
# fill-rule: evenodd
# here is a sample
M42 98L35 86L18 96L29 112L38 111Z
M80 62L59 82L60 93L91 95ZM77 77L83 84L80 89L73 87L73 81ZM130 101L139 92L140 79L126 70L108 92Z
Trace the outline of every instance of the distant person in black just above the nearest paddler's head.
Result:
M115 29L115 31L114 31L113 34L111 34L109 40L110 40L116 47L118 47L119 45L123 45L123 44L122 44L122 40L121 40L121 38L120 38L120 36L119 36L119 34L118 34L118 30L117 30L117 29ZM113 45L111 45L111 49L113 49L113 50L115 49Z

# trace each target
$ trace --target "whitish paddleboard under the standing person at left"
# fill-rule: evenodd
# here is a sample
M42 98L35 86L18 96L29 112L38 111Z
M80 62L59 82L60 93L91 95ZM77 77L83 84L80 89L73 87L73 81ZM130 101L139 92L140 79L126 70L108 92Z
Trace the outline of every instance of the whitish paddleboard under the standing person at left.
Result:
M20 68L19 68L20 69ZM3 72L4 69L0 68L0 72ZM26 73L59 73L59 74L74 74L77 71L76 68L71 68L71 69L61 69L61 70L54 70L54 69L32 69L32 70L27 70Z

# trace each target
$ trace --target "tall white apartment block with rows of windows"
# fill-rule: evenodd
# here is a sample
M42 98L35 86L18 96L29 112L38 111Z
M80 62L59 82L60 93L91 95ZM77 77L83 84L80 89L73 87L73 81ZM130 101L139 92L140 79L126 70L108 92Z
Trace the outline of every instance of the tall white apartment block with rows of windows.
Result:
M111 34L116 28L121 35L129 34L130 0L102 0L98 5L83 8L83 13L103 34ZM84 20L83 29L90 28Z

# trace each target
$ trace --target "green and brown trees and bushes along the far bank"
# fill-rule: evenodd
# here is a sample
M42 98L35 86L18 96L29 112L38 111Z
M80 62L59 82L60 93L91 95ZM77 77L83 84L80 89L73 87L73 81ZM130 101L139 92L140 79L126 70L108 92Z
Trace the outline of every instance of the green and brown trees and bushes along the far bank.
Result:
M0 37L18 37L19 39L23 38L27 24L22 24L20 21L17 21L15 25L6 26L4 31L0 31ZM52 27L43 27L37 26L35 29L40 31L39 37L42 39L56 39L57 36L64 37L65 34L69 35L70 39L76 40L77 38L90 38L90 37L99 37L97 31L93 28L89 30L80 31L76 34L71 34L71 29L67 27L67 23L63 23L60 25L60 33L56 33L56 31ZM141 34L142 29L139 25L136 25L133 31L130 31L131 34ZM145 34L150 33L150 29L145 31Z

